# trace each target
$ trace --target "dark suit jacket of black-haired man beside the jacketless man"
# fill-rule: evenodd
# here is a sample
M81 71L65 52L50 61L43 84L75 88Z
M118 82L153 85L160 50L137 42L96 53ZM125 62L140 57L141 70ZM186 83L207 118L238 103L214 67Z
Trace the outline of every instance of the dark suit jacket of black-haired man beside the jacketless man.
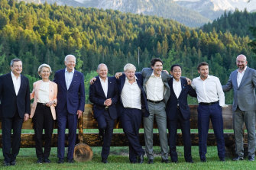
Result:
M181 81L181 91L180 96L177 96L173 90L173 78L168 81L170 85L170 98L167 101L166 113L167 120L176 120L177 119L177 104L179 104L180 112L183 115L184 120L190 119L190 107L187 104L187 95L196 98L196 91L191 87L191 85L187 85L186 79L180 79Z

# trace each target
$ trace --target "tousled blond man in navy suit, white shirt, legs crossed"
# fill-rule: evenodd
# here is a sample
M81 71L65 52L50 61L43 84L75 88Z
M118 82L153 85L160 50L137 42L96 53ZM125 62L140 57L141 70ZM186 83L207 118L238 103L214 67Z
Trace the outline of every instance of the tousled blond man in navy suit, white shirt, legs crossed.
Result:
M124 71L125 75L117 79L122 127L129 141L130 162L143 163L144 150L141 147L138 132L141 127L141 118L149 116L147 97L143 89L143 78L141 74L135 74L135 66L128 63Z

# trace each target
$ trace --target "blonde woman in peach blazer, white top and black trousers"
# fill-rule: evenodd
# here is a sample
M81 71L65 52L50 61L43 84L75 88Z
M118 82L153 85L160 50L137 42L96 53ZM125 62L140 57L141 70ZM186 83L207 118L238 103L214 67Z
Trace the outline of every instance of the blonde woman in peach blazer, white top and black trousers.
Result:
M41 80L34 82L31 99L34 102L31 107L31 116L34 122L34 136L36 144L37 163L50 163L51 136L53 134L54 120L56 120L55 106L57 104L57 84L49 80L50 66L42 64L38 68ZM44 152L42 149L43 129L45 133Z

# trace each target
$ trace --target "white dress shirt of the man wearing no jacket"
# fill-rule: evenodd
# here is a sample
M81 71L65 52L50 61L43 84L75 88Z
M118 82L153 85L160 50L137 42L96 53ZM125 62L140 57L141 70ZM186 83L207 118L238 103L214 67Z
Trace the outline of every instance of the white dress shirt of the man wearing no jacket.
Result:
M197 100L199 103L212 103L219 101L220 106L225 105L225 95L218 77L208 75L205 80L197 77L193 79L191 86L196 90Z

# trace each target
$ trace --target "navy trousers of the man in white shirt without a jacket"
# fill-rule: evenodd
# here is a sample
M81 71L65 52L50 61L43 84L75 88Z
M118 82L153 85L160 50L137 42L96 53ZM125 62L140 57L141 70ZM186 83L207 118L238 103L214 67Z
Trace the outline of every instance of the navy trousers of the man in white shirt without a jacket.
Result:
M198 111L198 131L199 131L199 156L201 159L206 157L207 136L209 130L209 120L212 121L218 156L220 159L225 158L225 142L223 136L223 119L222 107L219 103L212 105L199 104Z

